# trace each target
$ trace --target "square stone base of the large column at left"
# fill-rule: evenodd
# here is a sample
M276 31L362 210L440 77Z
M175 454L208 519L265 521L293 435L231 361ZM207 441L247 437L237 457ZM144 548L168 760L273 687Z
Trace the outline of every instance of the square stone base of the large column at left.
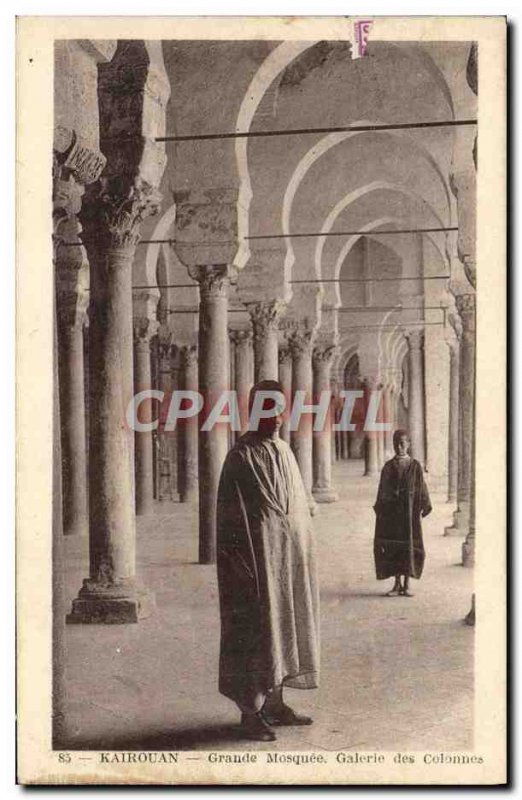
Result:
M149 617L154 609L154 595L148 589L133 586L101 586L85 580L73 600L69 624L101 623L123 625Z

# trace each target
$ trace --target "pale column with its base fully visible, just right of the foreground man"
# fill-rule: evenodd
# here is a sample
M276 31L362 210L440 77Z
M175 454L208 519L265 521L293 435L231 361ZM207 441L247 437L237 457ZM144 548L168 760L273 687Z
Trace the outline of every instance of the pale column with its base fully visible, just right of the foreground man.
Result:
M315 347L312 354L313 398L318 403L322 392L331 392L330 373L335 355L335 345ZM333 400L324 426L312 434L313 489L312 495L318 503L334 503L339 499L332 489L332 419Z

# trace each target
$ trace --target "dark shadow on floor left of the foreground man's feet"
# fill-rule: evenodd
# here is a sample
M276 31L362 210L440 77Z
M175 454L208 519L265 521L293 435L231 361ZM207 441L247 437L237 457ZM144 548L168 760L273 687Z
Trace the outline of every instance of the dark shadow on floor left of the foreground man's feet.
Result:
M242 741L238 725L201 725L177 731L136 731L127 736L67 738L60 749L66 750L196 750L212 749L212 745Z

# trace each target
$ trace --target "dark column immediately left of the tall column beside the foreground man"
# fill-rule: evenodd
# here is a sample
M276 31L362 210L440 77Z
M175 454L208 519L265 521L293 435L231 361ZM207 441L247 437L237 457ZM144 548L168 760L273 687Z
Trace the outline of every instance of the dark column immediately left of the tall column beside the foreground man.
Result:
M197 347L180 350L180 389L198 391ZM179 499L190 503L198 495L198 418L189 417L178 422L179 445Z

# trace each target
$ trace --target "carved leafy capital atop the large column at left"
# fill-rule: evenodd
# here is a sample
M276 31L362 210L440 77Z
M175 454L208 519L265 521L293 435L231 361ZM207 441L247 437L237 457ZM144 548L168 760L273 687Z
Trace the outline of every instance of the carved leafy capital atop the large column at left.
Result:
M81 211L83 241L95 249L134 249L140 224L154 216L161 206L161 194L145 181L137 181L119 193L114 181L102 179L88 190Z

